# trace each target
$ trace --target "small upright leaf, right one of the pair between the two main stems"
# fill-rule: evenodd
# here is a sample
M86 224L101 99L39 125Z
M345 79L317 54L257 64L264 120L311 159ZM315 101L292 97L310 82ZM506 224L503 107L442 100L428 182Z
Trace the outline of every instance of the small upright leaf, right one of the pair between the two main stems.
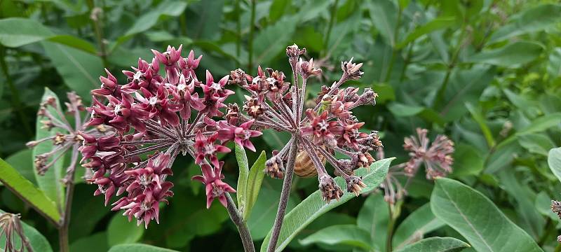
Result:
M259 190L261 190L261 183L265 176L263 170L265 169L266 158L265 151L262 151L259 158L257 158L255 163L251 166L248 183L245 189L245 209L243 210L243 219L245 221L250 217L251 210L255 202L257 202Z

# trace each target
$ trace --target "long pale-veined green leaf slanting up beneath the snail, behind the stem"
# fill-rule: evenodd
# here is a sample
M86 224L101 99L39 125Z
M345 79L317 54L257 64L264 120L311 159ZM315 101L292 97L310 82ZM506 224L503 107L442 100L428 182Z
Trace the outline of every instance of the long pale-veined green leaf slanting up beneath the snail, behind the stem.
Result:
M370 166L370 172L365 168L356 171L357 176L363 176L363 182L367 185L366 188L363 188L362 193L369 193L379 186L388 173L391 160L393 160L393 158L386 158L374 162L374 164ZM346 188L344 179L337 177L335 181L340 187ZM276 251L282 251L300 230L306 228L306 225L309 225L309 223L318 218L318 216L348 202L353 197L355 197L353 193L344 193L341 200L332 200L328 204L322 200L319 190L316 190L316 192L306 197L305 200L300 202L300 204L285 216L283 228L280 229ZM272 230L270 230L269 234L265 237L261 246L261 251L266 251L269 239L271 239L271 231Z

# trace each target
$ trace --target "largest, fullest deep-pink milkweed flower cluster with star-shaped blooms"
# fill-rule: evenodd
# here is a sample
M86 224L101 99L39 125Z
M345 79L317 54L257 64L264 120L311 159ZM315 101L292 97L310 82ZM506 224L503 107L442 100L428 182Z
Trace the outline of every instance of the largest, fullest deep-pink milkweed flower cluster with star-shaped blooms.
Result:
M180 153L188 153L201 165L203 176L194 179L206 186L207 206L215 198L225 205L224 193L235 190L222 182L217 153L230 151L224 146L227 141L255 150L249 139L261 134L251 129L252 121L233 125L213 119L224 116L219 109L234 94L224 88L229 76L215 81L206 71L205 82L199 81L195 69L201 56L194 57L191 50L184 58L181 50L182 46L168 46L165 52L152 50L151 62L139 59L133 71L123 71L124 85L106 70L107 77L100 77L101 87L92 91L91 119L86 125L108 127L114 134L81 133L81 162L93 171L88 181L97 185L95 195L104 194L108 204L112 195L126 193L112 210L125 209L124 215L136 218L139 225L158 222L158 205L173 195L173 183L165 179L172 175ZM161 65L165 75L159 73Z

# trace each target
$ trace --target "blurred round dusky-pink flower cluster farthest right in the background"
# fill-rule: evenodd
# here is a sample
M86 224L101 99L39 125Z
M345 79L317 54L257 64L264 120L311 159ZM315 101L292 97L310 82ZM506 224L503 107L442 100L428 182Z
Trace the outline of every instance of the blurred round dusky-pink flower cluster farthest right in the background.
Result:
M410 160L403 169L407 176L417 174L422 164L426 169L426 179L447 176L452 172L454 142L445 135L438 135L431 144L427 133L428 130L417 128L417 136L405 138L403 148L410 152Z

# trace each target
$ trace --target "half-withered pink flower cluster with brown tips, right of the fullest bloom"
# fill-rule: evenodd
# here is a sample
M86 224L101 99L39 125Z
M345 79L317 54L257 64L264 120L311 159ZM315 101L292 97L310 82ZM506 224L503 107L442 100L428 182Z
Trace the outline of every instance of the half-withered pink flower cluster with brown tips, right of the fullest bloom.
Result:
M241 69L231 71L230 83L235 83L247 90L245 104L228 110L227 120L236 123L252 122L263 129L288 132L290 141L280 151L273 151L273 157L267 160L264 172L269 176L283 179L285 171L294 169L296 156L305 155L311 161L314 175L318 175L319 188L323 199L330 202L339 199L343 192L325 169L325 161L334 167L335 174L346 181L349 193L358 195L365 187L362 179L354 171L360 167L370 167L374 158L371 151L381 147L377 132L360 132L364 123L353 116L351 110L361 105L375 104L377 94L366 88L358 94L358 88L339 88L347 80L356 80L363 75L362 63L355 64L352 59L342 62L342 77L330 87L323 86L318 94L316 105L304 109L306 83L309 77L321 73L314 66L313 59L306 61L300 55L305 49L291 45L286 49L292 77L295 83L285 81L285 74L273 69L257 69L257 76L245 74ZM299 85L299 77L302 85ZM245 114L241 112L245 112ZM341 153L348 158L335 158ZM292 174L286 174L292 176Z

